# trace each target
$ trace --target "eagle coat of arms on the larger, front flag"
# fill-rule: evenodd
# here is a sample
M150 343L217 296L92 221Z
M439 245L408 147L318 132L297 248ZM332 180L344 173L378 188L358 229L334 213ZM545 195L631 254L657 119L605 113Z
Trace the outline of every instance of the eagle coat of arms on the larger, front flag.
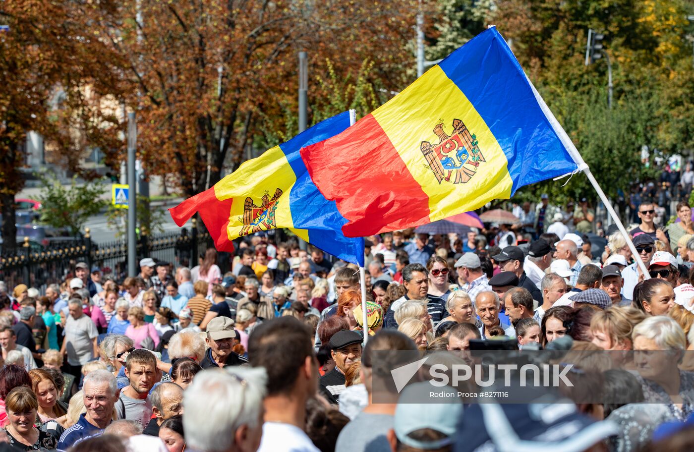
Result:
M427 168L434 173L439 184L466 183L475 176L480 162L486 162L478 147L477 137L468 131L464 122L453 119L453 133L448 135L443 130L443 122L434 127L439 137L437 144L423 141L421 151L427 160Z

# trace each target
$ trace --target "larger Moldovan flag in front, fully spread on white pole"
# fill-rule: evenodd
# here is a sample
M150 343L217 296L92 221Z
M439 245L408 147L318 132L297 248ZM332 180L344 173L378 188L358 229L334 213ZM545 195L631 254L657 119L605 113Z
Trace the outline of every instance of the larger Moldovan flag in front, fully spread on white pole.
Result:
M585 165L494 27L301 156L348 237L474 210Z

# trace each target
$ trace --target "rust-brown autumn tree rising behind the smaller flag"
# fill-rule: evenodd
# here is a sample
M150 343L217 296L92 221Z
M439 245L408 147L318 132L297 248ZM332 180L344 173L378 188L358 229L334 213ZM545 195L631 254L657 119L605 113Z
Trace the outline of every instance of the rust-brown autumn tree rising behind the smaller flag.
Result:
M284 112L296 110L298 51L309 51L312 71L323 74L328 60L356 74L371 58L374 83L401 87L415 6L128 0L112 9L94 2L85 14L89 33L126 60L125 101L137 112L146 170L192 196L233 171L268 121L286 126ZM318 95L330 94L313 83Z

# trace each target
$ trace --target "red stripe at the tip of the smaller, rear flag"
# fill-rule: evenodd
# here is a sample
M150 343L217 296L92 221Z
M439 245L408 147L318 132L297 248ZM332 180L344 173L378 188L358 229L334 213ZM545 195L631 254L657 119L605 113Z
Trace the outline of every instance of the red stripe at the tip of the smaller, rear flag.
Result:
M198 193L192 198L188 198L176 207L169 209L171 218L180 227L185 224L197 212L205 223L205 227L210 231L214 246L218 251L234 251L234 244L229 240L226 228L229 224L229 214L232 198L219 201L214 194L214 187ZM196 256L193 256L196 259Z

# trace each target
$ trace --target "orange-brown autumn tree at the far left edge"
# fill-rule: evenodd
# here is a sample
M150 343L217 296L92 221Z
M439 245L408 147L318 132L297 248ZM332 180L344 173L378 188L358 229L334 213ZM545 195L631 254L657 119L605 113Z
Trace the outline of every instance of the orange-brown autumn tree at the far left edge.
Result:
M108 86L108 92L118 87L112 73L103 70L114 61L101 42L84 35L84 17L73 6L42 0L0 5L0 22L9 27L0 33L3 253L16 246L14 199L24 185L22 144L28 131L43 135L60 163L75 170L88 146L115 145L109 124L117 122L99 108L103 87Z

